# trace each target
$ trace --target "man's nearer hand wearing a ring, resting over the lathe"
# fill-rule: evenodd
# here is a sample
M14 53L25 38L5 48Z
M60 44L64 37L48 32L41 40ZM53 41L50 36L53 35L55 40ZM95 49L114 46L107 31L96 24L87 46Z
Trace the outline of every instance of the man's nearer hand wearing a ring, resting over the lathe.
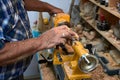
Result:
M60 43L65 44L66 39L71 39L75 37L77 34L70 30L67 26L63 25L60 27L52 28L47 32L43 33L38 40L41 41L42 49L52 48Z

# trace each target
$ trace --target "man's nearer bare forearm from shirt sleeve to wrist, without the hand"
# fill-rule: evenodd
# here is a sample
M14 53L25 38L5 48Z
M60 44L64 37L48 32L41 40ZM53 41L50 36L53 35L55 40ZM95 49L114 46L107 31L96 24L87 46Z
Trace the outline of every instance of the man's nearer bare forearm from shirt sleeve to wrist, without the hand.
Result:
M37 39L28 39L19 42L6 43L5 47L0 50L0 65L14 63L26 58L40 49L41 43Z

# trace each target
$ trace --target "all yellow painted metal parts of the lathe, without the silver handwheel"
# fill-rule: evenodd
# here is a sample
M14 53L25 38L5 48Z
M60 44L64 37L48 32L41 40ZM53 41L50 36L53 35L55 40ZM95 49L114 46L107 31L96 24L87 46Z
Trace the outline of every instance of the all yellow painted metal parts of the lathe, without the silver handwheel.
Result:
M54 17L55 26L58 26L58 24L63 22L70 22L70 16L68 14L60 13ZM74 49L73 55L64 55L61 49L55 49L53 64L62 65L66 75L64 80L81 80L91 78L89 74L82 72L78 67L79 58L81 58L82 55L88 54L88 50L86 50L79 41L74 41L72 48ZM60 54L62 61L59 60L57 54Z

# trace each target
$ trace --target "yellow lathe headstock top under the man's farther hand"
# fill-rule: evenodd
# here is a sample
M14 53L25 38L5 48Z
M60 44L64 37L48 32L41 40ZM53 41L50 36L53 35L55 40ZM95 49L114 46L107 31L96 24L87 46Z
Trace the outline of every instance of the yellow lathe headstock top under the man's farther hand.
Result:
M56 16L54 17L54 26L58 26L59 24L61 23L64 23L64 22L70 22L70 16L68 14L65 14L65 13L59 13L59 14L56 14Z

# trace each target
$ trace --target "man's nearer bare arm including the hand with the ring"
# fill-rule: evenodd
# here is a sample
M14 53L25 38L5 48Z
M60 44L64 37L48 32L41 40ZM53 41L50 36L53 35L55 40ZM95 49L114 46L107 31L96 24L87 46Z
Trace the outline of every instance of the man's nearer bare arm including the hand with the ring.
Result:
M62 33L65 35L63 36ZM75 34L66 26L61 26L46 31L38 38L6 43L5 47L0 50L0 66L14 63L35 54L37 51L65 43L66 38L70 39Z

